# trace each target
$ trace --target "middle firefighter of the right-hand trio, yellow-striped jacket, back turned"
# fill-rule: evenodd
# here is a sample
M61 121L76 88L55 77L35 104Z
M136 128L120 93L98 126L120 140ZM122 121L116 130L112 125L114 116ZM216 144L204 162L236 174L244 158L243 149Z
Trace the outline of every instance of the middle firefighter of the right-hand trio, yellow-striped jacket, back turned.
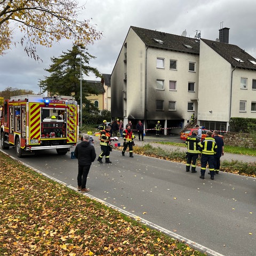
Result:
M211 174L211 180L214 180L214 155L217 153L217 144L212 138L212 132L206 132L206 138L199 144L199 154L201 156L201 176L199 178L204 179L206 170L206 164L209 164L209 171Z

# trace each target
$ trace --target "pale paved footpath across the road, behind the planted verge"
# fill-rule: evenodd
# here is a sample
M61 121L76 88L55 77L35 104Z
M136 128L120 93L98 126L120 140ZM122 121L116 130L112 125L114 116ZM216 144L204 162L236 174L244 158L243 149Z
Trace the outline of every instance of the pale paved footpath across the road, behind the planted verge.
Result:
M176 139L177 140L177 139ZM122 142L122 139L120 139L120 141ZM172 141L174 142L175 139L173 140L172 137L155 137L155 136L145 136L143 141L139 141L138 136L135 138L134 143L136 146L143 146L146 144L150 144L152 147L159 147L165 150L180 150L180 151L187 151L186 147L178 147L178 146L171 146L171 145L164 145L164 144L159 144L157 143L157 141ZM181 140L177 140L175 142L181 142ZM225 151L225 147L224 147L224 151ZM256 162L256 157L254 156L246 156L246 155L238 155L238 154L231 154L231 153L225 153L221 158L221 161L223 160L227 160L227 161L241 161L241 162L247 162L247 163L251 163L251 162Z

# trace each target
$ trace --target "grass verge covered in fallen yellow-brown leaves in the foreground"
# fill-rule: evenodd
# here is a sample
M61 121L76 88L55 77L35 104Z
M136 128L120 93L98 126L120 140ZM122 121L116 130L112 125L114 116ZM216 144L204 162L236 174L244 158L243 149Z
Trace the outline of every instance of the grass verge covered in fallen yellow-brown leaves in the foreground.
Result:
M0 158L0 255L205 255Z

